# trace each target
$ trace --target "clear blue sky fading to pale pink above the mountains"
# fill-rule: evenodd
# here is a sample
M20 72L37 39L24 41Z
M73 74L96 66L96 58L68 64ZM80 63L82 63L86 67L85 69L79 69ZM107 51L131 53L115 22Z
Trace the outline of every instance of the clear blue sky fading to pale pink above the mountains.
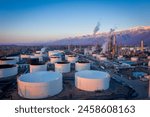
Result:
M0 43L44 42L150 26L149 0L0 0Z

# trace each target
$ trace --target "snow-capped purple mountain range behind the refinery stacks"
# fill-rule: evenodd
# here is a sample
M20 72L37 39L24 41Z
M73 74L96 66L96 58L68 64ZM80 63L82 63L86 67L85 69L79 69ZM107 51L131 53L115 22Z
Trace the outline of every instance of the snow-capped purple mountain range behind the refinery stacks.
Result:
M139 45L141 40L144 44L150 46L150 26L138 26L127 30L116 31L117 43L121 45ZM89 45L103 44L105 39L109 38L109 32L98 33L94 35L83 35L79 37L66 38L49 42L50 45Z

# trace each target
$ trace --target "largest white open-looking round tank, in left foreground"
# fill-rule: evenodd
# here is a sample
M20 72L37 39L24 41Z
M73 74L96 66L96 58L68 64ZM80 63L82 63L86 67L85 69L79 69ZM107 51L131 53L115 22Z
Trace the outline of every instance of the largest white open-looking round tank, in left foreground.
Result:
M17 80L18 94L29 99L47 98L59 94L62 89L62 74L53 71L27 73Z

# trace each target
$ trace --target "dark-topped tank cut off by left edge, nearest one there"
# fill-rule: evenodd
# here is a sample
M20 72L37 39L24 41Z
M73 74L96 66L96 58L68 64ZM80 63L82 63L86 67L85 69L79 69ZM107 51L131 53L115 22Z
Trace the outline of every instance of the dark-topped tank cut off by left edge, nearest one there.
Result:
M9 76L15 76L17 74L18 74L17 65L11 65L11 64L0 65L0 79L7 78Z

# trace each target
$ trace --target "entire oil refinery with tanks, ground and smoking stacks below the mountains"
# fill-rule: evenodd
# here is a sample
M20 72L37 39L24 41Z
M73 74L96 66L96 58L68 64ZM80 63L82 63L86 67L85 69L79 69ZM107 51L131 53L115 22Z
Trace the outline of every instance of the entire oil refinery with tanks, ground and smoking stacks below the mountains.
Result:
M27 46L0 55L0 99L149 99L150 47L116 38L111 29L103 44Z

